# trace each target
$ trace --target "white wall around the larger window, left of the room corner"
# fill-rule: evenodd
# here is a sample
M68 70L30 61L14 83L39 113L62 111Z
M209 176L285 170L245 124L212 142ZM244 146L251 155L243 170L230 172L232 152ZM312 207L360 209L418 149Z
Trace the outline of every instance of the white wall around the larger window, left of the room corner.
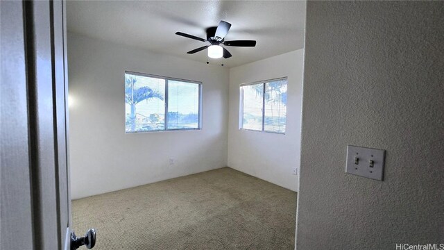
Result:
M67 43L73 199L227 166L228 69L72 33ZM203 129L126 134L126 70L202 81Z

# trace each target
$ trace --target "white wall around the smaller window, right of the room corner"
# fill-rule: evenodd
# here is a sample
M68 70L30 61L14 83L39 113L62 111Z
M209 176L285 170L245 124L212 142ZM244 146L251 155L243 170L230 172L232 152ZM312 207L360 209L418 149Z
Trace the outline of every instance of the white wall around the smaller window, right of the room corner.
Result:
M230 69L228 167L297 191L300 164L300 114L303 50L299 49ZM239 85L288 77L285 135L239 130Z

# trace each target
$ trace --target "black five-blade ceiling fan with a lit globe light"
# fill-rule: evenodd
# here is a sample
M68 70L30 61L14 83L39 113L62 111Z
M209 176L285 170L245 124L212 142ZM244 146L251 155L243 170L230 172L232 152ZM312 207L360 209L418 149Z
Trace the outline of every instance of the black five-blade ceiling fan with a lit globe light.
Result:
M210 58L230 58L231 53L221 47L221 45L225 46L233 46L233 47L255 47L255 40L234 40L234 41L225 41L225 35L227 35L230 30L231 24L225 21L219 22L217 27L207 28L207 39L198 38L194 35L189 35L182 32L176 32L176 35L181 35L185 38L191 38L194 40L198 40L201 42L209 42L210 45L205 45L203 47L193 49L192 51L188 51L187 53L192 54L199 51L203 51L204 49L208 49L208 56Z

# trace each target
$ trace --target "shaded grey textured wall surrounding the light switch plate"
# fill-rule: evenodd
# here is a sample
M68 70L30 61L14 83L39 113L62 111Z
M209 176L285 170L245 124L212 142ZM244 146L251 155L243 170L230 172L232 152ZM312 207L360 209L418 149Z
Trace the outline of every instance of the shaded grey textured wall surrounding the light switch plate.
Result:
M306 32L297 249L444 243L444 2L309 1Z

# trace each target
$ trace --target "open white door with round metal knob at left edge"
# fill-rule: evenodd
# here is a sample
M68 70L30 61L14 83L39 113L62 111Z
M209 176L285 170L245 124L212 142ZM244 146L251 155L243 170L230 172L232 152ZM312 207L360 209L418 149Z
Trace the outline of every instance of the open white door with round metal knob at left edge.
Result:
M71 246L63 1L0 1L1 249Z

